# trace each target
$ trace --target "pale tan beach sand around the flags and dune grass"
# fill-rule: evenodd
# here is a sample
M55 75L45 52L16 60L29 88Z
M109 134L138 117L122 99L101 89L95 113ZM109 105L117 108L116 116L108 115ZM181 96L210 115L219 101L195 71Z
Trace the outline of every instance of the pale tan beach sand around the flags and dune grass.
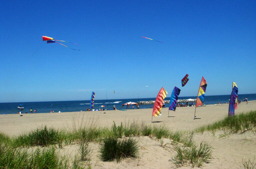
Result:
M136 122L147 125L165 125L173 131L192 131L202 125L208 125L218 120L224 119L228 114L228 104L218 106L207 105L196 109L195 107L178 107L176 111L170 111L168 117L168 107L162 109L160 118L153 117L151 123L152 109L135 110L111 110L111 111L90 111L90 112L65 112L65 113L40 113L40 114L8 114L0 115L0 132L9 136L29 132L37 127L45 126L56 129L72 129L81 123L90 125L97 124L102 127L111 127L113 121L120 125ZM248 104L242 102L238 105L235 114L256 110L256 101L249 101ZM105 113L104 113L105 112ZM92 122L93 121L93 122ZM185 132L184 132L185 133ZM226 136L222 131L195 133L196 144L205 141L213 147L213 159L211 163L204 164L202 168L243 168L243 160L253 159L256 154L256 136L251 131L232 133ZM140 160L126 159L121 163L102 162L98 158L98 143L90 143L93 149L91 160L92 168L177 168L169 159L175 155L173 145L169 144L169 139L163 139L166 146L160 146L158 139L141 136L134 137L140 145ZM77 145L68 145L62 149L63 153L75 155ZM191 167L182 167L191 168Z

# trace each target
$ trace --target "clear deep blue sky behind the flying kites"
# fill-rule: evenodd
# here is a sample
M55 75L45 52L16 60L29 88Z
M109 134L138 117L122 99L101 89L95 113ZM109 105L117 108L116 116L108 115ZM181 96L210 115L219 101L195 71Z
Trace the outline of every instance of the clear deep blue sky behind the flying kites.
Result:
M202 76L206 95L230 94L232 81L238 93L256 93L255 9L256 1L3 1L0 102L89 100L92 91L95 100L151 98L161 87L170 97L174 86L196 96Z

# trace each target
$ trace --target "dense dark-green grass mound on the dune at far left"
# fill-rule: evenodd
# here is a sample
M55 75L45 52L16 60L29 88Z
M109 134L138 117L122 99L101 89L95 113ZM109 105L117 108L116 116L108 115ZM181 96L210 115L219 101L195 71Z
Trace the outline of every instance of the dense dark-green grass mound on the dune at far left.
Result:
M22 134L14 139L13 145L17 146L48 146L61 143L63 137L61 137L60 132L54 128L40 127L28 134Z

